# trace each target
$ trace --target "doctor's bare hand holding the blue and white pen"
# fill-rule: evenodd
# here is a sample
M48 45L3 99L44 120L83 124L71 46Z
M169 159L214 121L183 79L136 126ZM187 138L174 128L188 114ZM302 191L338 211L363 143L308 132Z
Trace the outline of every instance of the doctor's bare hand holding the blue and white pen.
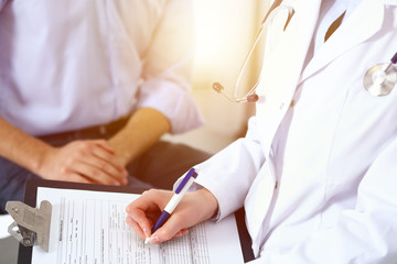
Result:
M187 193L167 222L151 234L151 228L172 196L173 193L169 190L151 189L126 208L127 223L142 240L151 235L150 243L159 244L181 237L187 233L187 228L212 218L217 212L217 200L210 190Z

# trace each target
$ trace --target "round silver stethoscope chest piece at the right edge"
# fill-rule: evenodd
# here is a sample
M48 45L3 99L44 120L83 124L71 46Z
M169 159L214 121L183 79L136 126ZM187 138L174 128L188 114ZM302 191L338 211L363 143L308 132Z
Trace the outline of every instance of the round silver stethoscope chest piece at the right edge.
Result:
M390 64L377 64L364 76L364 88L375 97L390 94L397 84L397 70Z

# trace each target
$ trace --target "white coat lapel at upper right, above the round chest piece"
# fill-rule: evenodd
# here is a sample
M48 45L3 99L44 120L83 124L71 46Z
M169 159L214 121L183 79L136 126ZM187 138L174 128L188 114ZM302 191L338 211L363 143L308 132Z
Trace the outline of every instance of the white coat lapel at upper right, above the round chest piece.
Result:
M383 20L383 1L364 0L313 56L303 70L301 81L373 36L380 29Z

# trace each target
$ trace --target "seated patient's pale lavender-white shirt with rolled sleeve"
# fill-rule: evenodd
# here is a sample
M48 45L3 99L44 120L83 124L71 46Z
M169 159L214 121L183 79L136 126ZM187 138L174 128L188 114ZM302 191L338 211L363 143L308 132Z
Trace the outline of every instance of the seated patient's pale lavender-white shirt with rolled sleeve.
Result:
M202 124L189 94L187 0L0 1L0 114L33 135L150 107L172 133Z

